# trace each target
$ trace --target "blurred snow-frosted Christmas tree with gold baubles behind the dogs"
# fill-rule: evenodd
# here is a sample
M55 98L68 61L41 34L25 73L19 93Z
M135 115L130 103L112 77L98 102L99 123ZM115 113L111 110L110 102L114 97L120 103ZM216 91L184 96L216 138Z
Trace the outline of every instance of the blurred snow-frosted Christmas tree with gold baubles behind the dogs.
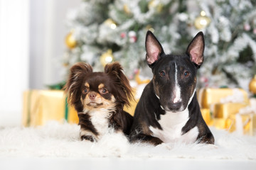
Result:
M244 86L256 73L256 2L253 0L87 0L68 13L64 63L97 69L119 61L129 78L146 67L144 40L154 32L166 53L181 54L205 34L201 86Z

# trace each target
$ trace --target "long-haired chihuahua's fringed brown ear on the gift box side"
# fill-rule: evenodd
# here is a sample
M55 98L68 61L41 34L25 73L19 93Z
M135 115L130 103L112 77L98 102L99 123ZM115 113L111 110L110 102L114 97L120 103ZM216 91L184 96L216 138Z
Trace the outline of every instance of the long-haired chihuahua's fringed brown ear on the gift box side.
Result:
M85 62L78 62L70 68L70 74L64 89L68 93L68 101L71 105L79 103L82 81L88 73L92 73L92 67Z

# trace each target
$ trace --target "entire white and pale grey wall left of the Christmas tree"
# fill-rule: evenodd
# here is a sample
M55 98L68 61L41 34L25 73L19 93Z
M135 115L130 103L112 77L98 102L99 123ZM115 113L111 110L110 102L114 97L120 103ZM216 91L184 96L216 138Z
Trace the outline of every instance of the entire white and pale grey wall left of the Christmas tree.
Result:
M0 0L0 127L20 125L22 93L63 79L66 13L81 0Z

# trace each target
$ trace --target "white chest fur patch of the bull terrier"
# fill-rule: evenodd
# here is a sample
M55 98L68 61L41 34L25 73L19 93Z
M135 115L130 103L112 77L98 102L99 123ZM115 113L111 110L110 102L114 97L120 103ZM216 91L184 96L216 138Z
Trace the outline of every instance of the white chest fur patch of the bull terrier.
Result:
M161 115L158 121L162 130L159 128L149 127L153 132L154 137L158 137L165 143L169 142L196 142L198 137L198 128L194 127L185 134L182 134L182 128L188 121L188 108L185 111L179 113L166 112L165 115Z

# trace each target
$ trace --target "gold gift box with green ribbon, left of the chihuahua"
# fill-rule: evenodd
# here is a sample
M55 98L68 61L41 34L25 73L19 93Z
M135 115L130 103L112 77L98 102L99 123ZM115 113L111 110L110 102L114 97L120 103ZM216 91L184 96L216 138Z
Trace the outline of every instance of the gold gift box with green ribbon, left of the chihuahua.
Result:
M78 123L74 108L66 106L66 96L60 90L30 90L23 92L24 126L45 125L48 120Z

